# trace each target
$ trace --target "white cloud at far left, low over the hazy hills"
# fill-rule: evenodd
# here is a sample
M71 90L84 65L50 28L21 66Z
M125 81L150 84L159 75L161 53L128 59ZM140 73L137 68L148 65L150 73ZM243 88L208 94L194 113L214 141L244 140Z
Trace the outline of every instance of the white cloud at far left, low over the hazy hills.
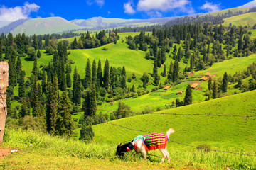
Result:
M35 3L29 4L26 2L24 6L16 6L14 8L0 7L0 21L16 21L25 19L30 16L31 12L37 12L40 6Z

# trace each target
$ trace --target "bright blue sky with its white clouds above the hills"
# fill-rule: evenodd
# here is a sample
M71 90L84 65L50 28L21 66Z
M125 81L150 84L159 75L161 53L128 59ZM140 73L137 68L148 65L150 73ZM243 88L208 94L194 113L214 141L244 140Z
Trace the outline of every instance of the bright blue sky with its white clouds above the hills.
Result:
M105 18L183 16L235 8L250 1L252 0L0 0L0 21L50 16L60 16L68 21L94 16Z

